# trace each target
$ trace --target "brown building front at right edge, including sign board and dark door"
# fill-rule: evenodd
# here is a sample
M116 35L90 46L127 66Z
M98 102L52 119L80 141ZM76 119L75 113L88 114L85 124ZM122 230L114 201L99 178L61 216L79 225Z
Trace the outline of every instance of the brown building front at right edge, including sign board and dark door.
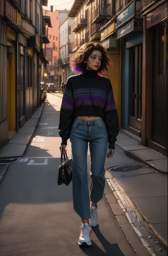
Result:
M167 1L143 1L142 143L167 156Z

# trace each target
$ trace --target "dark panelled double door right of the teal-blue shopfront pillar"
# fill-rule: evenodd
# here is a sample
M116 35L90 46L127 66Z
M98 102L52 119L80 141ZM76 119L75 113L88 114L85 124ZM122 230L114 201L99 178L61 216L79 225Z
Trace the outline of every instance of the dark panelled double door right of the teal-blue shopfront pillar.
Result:
M129 65L129 127L130 132L141 136L142 119L142 44L130 50Z

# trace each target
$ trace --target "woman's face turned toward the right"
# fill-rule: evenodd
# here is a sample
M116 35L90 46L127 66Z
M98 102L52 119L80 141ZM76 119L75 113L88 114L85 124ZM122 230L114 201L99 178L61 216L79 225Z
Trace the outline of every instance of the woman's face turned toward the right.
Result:
M95 50L92 52L92 54L89 56L86 63L86 69L89 70L98 70L101 66L102 61L102 54L101 51Z

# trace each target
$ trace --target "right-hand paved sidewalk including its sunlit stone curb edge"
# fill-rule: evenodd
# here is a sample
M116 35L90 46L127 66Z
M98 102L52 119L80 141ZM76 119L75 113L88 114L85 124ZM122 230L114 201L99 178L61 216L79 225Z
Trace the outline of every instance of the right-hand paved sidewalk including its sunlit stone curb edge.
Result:
M122 215L126 215L151 255L166 255L167 157L140 145L137 139L123 130L119 132L114 158L106 160L105 169L108 185L122 211L118 213L113 202L108 197L107 200L121 227ZM126 236L129 235L126 229L122 229Z

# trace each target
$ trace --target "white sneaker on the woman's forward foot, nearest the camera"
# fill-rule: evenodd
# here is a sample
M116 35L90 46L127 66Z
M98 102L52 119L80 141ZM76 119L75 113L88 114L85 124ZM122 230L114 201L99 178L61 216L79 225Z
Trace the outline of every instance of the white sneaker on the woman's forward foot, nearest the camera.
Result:
M81 232L79 236L79 246L90 246L91 245L91 232L92 229L89 227L88 223L83 223L80 227Z

